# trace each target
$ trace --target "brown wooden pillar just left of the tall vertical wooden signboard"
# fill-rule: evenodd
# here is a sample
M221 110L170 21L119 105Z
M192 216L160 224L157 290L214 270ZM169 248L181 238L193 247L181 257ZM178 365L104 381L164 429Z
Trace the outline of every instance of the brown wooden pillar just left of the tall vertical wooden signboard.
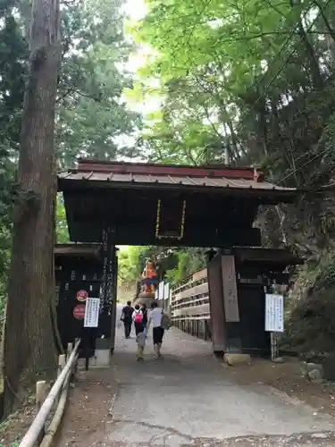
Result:
M213 350L222 353L226 350L226 331L222 296L221 253L207 263L207 277Z

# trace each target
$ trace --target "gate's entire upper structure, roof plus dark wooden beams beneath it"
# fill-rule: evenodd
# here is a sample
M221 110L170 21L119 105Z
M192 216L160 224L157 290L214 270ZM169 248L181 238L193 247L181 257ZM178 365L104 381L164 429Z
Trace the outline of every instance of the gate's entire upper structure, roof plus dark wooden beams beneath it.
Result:
M252 228L259 205L293 202L297 190L273 185L253 167L187 166L80 160L58 175L71 240L100 242L113 228L118 245L227 247L259 245ZM186 204L182 240L157 239L157 204L178 220ZM170 206L168 205L170 203Z

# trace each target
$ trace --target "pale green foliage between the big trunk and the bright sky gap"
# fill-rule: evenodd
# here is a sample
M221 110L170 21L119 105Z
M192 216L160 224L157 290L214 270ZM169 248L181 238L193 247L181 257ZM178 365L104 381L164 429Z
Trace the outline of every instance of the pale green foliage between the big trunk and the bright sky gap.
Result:
M121 99L131 89L130 74L121 64L131 46L123 36L122 0L86 0L63 9L63 65L56 121L60 166L78 156L115 159L134 156L134 148L118 139L140 125Z

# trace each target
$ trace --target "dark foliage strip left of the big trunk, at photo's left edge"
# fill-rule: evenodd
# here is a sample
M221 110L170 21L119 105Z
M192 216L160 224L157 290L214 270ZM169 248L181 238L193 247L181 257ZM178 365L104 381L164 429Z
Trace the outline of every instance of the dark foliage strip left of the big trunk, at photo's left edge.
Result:
M0 319L4 315L7 269L10 262L15 164L21 130L27 49L13 2L2 3L0 19Z

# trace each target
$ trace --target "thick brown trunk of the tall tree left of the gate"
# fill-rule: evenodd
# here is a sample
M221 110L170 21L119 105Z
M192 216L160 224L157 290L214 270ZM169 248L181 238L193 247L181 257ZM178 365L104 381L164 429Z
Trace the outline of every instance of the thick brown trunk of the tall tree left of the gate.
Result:
M35 0L29 30L13 222L13 252L4 329L4 410L22 375L54 367L54 108L61 61L59 0ZM18 348L20 347L20 349Z

